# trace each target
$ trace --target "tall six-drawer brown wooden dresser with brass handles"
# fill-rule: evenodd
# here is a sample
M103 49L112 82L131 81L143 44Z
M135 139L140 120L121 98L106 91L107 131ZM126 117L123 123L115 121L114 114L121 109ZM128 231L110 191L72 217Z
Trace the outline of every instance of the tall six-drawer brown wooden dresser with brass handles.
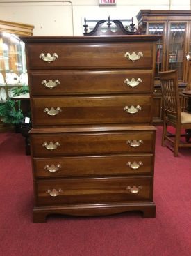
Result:
M154 217L158 36L23 37L31 86L33 222Z

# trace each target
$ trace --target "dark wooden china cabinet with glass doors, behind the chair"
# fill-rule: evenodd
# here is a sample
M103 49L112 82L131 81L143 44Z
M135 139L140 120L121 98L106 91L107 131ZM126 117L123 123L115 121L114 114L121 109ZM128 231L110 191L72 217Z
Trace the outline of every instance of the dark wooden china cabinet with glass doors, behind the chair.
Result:
M156 45L153 123L157 125L163 121L163 103L158 72L177 69L180 91L185 89L188 83L188 56L191 56L191 11L140 10L137 19L143 33L163 36ZM181 99L181 104L184 108L185 99Z

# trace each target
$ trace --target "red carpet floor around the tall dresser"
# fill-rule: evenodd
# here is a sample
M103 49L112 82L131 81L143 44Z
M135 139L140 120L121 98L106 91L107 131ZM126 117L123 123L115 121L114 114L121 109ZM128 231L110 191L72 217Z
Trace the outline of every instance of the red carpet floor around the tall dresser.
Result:
M190 256L191 149L179 157L156 138L156 218L51 216L32 223L33 184L24 138L0 133L1 256Z

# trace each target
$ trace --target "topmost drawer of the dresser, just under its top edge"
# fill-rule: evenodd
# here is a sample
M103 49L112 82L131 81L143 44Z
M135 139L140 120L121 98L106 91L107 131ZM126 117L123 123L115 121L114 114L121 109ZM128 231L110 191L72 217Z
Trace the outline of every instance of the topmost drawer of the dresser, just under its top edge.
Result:
M152 42L35 43L35 45L28 43L26 50L30 69L152 68L153 66ZM47 54L50 54L50 58L47 58L49 57ZM128 59L128 56L133 61ZM51 59L55 60L51 61Z

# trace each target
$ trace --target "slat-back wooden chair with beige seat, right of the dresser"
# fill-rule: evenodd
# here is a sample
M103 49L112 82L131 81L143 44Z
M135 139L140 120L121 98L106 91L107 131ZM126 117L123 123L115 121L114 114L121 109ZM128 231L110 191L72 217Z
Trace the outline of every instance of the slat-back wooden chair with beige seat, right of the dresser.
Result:
M174 145L174 156L178 156L179 147L191 147L188 135L181 134L183 129L191 129L191 113L181 112L177 70L160 72L159 77L164 107L162 146L167 146L166 140L171 142ZM168 126L175 128L174 134L169 133ZM185 137L185 142L181 141L181 136Z

